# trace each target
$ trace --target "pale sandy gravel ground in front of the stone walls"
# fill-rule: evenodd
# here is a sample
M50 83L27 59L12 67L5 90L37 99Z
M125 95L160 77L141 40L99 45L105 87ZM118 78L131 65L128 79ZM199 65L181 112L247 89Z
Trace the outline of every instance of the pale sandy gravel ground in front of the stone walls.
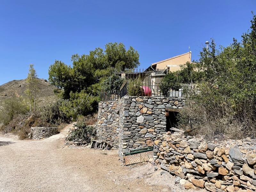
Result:
M121 166L116 150L64 146L72 125L45 140L0 136L0 191L184 191L150 164Z

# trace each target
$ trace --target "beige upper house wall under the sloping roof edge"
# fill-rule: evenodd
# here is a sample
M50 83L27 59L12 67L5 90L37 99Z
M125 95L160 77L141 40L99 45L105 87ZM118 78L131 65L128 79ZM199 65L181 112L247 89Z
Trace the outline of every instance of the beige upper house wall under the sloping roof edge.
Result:
M177 71L180 69L179 65L184 65L188 61L191 62L191 52L187 52L182 55L172 57L170 59L162 60L153 63L152 65L156 64L156 69L166 69L168 68L167 65L174 65L170 66L170 71Z

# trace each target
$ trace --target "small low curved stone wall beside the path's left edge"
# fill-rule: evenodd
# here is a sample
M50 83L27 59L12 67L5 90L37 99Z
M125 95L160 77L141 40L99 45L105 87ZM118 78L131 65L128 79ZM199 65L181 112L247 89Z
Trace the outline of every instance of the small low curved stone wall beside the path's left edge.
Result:
M31 139L44 139L58 133L58 127L31 127ZM32 137L31 137L32 134Z

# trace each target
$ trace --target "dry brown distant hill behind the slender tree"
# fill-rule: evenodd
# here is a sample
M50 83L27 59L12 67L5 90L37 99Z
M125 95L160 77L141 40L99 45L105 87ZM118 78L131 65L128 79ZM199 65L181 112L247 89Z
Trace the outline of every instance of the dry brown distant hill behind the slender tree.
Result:
M57 97L54 95L54 92L53 92L53 90L57 88L51 85L45 79L38 79L38 80L39 80L39 84L38 84L39 90L36 96L37 106L42 106L44 104L47 104L57 99ZM12 80L8 83L0 85L0 109L2 108L3 101L5 99L12 98L12 97L27 98L27 95L25 94L25 90L26 90L25 79Z

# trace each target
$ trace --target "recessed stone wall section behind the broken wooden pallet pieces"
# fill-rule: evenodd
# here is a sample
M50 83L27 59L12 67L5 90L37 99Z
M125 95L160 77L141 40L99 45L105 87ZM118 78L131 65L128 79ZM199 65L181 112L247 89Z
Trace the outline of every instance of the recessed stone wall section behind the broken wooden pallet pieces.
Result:
M101 101L99 103L97 135L118 148L119 108L118 101Z

